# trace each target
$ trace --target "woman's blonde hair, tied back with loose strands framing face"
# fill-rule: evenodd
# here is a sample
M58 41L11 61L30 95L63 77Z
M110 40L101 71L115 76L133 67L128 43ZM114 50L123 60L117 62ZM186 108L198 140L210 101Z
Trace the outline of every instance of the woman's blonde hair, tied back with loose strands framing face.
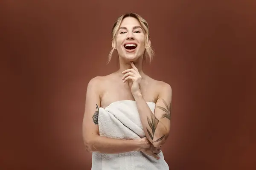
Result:
M112 28L112 41L113 41L113 44L114 44L114 47L113 49L110 51L109 55L108 55L108 62L110 62L111 58L112 58L112 54L116 48L116 34L117 34L117 31L122 23L122 20L125 19L126 17L134 17L135 19L137 19L140 23L140 25L142 26L143 28L143 31L145 32L145 56L148 57L149 59L149 62L151 62L151 59L153 58L153 55L154 55L154 51L151 47L151 45L149 44L149 40L150 40L150 37L149 37L149 32L148 32L148 23L145 19L143 19L143 17L141 17L140 15L138 14L135 14L135 13L128 13L128 14L122 14L120 17L118 17L118 19L116 20L116 22L114 23L113 25L113 28Z

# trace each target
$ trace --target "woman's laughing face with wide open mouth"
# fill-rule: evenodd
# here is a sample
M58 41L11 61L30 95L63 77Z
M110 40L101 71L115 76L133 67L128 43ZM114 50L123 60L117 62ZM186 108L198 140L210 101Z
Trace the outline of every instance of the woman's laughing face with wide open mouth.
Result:
M143 57L145 33L136 18L126 17L122 20L116 34L116 50L119 57L130 62Z

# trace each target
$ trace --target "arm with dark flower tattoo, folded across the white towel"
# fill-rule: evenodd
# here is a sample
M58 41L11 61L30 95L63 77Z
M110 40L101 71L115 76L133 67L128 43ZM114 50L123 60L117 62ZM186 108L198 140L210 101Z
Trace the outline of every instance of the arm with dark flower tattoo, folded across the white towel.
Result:
M145 150L150 147L148 140L121 140L99 136L98 114L100 107L100 77L90 80L86 91L83 118L83 139L89 152L124 153Z

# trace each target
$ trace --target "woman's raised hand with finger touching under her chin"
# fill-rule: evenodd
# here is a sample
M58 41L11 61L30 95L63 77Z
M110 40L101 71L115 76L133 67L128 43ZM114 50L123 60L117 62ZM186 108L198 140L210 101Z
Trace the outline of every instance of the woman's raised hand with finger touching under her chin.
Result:
M122 72L122 74L124 74L124 76L122 77L122 80L123 82L128 82L128 85L131 88L131 93L134 96L137 94L141 94L141 91L140 91L141 76L133 62L131 62L131 67L132 67L131 69L128 69Z

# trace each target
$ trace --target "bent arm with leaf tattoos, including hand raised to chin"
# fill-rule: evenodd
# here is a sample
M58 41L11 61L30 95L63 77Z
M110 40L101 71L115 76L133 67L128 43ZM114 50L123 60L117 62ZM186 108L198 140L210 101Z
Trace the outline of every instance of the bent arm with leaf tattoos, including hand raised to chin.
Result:
M140 121L148 141L151 142L154 147L160 147L169 136L172 88L165 82L161 82L161 85L158 86L159 90L157 91L159 91L159 95L153 114L140 91L140 73L133 62L131 62L131 67L131 69L122 72L122 74L124 74L122 80L124 83L128 82L131 88L131 93L136 101Z

